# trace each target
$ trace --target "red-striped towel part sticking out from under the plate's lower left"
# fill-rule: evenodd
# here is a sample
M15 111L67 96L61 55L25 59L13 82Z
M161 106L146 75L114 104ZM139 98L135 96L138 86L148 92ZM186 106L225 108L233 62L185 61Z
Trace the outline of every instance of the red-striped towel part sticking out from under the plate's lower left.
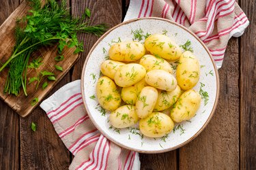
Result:
M80 80L66 84L40 105L74 155L69 169L140 169L137 152L116 146L89 120L80 87Z

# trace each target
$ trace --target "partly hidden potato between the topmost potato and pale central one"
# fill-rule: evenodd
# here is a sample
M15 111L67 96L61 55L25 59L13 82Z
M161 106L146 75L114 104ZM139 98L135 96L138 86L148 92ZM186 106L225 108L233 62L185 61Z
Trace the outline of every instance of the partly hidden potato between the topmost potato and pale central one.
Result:
M151 54L143 56L139 62L140 65L145 67L146 71L151 71L153 69L163 69L169 73L173 73L171 65L162 58L156 58Z

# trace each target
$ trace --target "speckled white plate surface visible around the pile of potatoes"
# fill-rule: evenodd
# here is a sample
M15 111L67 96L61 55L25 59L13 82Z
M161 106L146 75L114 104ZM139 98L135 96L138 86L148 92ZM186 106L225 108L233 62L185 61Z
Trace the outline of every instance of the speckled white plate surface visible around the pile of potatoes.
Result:
M194 54L199 59L201 65L201 76L195 90L199 91L200 87L208 92L209 100L205 105L205 100L201 101L201 106L197 114L189 122L182 122L175 125L175 130L169 133L167 138L150 138L141 137L139 130L134 126L132 129L114 129L109 128L109 112L102 114L98 101L91 99L96 97L96 84L100 77L100 64L105 60L110 45L121 39L132 40L132 31L141 29L143 33L163 33L171 37L177 44L184 44L187 40L191 41ZM141 40L142 42L144 41ZM158 153L167 152L184 146L194 139L212 118L218 101L218 71L214 61L210 56L209 50L193 33L188 31L180 24L165 20L162 18L140 18L129 20L113 27L106 32L96 44L91 48L85 65L83 67L81 89L83 101L87 109L87 114L98 130L108 139L123 148L135 150L137 152ZM202 87L202 84L204 86Z

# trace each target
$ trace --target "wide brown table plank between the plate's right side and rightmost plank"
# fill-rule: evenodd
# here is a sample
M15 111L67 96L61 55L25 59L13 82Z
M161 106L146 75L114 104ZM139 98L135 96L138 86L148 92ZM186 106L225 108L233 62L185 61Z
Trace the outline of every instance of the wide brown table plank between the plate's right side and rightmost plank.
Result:
M212 120L188 145L180 148L180 169L239 168L238 39L231 38L219 69L220 98Z

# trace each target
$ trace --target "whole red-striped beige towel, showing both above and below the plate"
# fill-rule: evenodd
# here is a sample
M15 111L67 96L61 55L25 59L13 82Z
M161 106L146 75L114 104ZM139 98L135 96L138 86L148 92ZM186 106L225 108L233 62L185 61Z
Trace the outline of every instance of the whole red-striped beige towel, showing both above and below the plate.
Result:
M242 35L248 19L234 0L130 0L124 20L156 16L188 27L208 46L218 68L230 37ZM87 116L80 80L66 84L40 105L74 159L69 169L140 169L139 154L119 148Z

